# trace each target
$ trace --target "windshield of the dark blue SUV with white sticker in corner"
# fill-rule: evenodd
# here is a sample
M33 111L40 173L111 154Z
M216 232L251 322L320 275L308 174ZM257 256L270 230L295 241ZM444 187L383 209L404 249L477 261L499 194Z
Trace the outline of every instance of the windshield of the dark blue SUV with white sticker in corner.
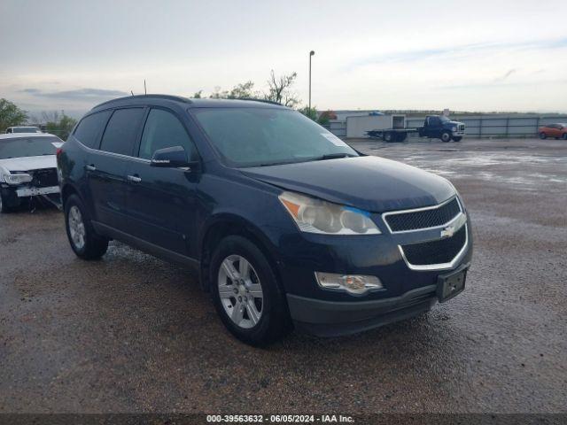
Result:
M191 112L230 166L358 156L336 135L288 109L195 108Z

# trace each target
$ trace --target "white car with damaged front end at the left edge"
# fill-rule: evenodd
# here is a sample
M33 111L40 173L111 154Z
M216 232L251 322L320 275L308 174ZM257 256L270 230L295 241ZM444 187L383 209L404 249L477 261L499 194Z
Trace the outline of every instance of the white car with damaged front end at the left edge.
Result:
M30 197L58 203L57 148L63 143L47 133L0 135L0 212Z

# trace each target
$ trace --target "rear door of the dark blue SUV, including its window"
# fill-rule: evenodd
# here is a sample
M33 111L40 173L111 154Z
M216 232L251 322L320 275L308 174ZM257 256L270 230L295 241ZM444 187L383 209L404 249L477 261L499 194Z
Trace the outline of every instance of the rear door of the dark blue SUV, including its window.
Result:
M100 149L91 152L86 165L96 220L112 228L128 225L126 170L143 117L144 108L115 110L106 124Z

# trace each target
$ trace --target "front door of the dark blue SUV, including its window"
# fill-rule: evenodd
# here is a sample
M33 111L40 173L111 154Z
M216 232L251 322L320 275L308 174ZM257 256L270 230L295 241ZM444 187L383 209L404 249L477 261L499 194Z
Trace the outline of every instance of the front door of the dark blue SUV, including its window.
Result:
M197 149L180 117L165 108L152 108L145 120L139 160L128 164L130 232L148 243L187 255L197 231L199 174L150 165L153 152L173 146L182 146L188 160L198 160Z

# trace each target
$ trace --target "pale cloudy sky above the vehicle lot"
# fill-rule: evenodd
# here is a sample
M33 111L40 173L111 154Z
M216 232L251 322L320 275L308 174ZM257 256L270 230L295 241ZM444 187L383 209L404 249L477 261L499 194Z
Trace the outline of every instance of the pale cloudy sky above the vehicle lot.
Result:
M0 97L81 116L297 72L319 110L567 112L567 1L0 0Z

